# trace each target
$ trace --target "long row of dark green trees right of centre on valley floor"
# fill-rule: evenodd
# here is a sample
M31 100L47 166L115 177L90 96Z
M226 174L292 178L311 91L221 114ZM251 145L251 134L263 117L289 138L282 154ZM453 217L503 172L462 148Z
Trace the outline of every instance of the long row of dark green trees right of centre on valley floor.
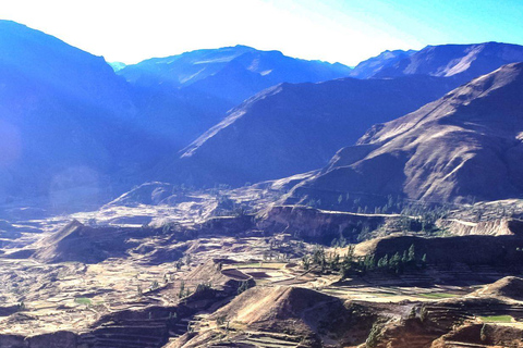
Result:
M326 252L324 247L317 245L314 247L312 254L305 254L302 258L302 264L305 270L316 268L321 273L338 272L345 278L367 272L401 274L409 269L424 269L427 264L427 254L417 258L415 247L412 245L409 250L404 250L402 253L385 254L380 259L376 259L374 253L365 257L354 256L354 246L349 246L348 252L340 256L336 251Z

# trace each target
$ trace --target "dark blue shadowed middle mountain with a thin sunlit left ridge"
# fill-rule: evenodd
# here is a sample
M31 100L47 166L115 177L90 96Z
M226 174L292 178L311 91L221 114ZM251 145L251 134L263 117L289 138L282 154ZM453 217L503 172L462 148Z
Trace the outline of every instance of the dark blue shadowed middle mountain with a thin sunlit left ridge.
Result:
M311 171L370 125L454 87L452 78L430 76L281 84L231 110L180 158L159 165L157 178L238 186Z

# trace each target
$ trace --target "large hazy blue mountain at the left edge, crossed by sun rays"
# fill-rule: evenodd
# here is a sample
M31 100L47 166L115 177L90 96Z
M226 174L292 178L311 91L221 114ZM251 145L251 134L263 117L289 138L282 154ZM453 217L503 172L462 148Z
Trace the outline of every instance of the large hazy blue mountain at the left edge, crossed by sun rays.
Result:
M109 192L109 174L139 160L127 87L104 58L0 21L0 201Z

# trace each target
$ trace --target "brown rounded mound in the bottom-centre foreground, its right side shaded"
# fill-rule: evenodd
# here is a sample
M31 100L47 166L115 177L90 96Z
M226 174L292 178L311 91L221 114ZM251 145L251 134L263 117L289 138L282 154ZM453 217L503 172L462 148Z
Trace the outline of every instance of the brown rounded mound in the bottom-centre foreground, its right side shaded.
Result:
M255 287L208 319L218 323L216 328L197 327L197 334L185 334L166 348L222 347L226 339L217 335L217 330L226 325L232 347L325 347L337 341L354 345L364 341L375 318L363 307L311 289Z

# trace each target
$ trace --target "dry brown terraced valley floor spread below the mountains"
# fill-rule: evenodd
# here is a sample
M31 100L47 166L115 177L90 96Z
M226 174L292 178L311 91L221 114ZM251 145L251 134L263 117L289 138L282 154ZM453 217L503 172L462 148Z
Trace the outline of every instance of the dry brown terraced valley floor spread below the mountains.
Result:
M267 189L271 185L221 194L257 215L228 215L215 194L200 192L183 199L169 194L162 198L169 204L127 196L90 213L11 217L2 227L0 347L521 344L523 281L504 277L521 272L514 259L518 202L457 208L438 222L449 228L441 238L398 229L401 214L270 208L279 197ZM142 189L146 196L155 191ZM264 197L265 204L253 204ZM500 216L499 207L512 207L510 215ZM479 222L476 210L483 211ZM489 227L463 233L452 229L457 221ZM343 279L339 271L304 266L303 257L317 250L315 236L363 224L385 237L369 234L356 246L356 258L392 256L415 245L428 254L427 266ZM506 227L492 234L491 225ZM357 229L351 231L356 240ZM484 258L496 256L488 248L504 248L514 268L492 264ZM325 252L343 257L349 249L327 246Z

